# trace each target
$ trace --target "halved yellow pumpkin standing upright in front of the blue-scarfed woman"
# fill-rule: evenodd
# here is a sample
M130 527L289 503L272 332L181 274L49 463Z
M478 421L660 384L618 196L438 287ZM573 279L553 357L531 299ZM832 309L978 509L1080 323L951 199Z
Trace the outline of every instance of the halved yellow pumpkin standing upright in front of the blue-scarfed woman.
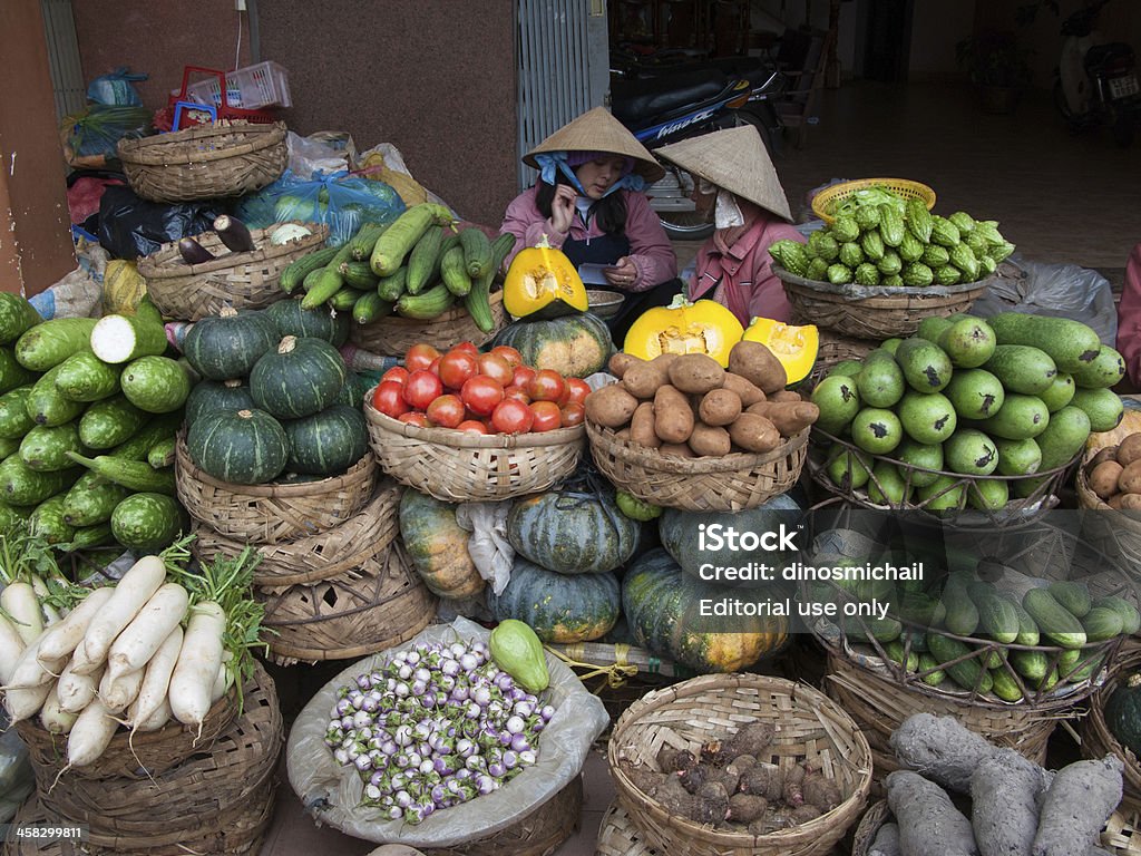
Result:
M557 318L586 312L586 288L566 255L547 242L520 250L503 282L503 308L517 318Z

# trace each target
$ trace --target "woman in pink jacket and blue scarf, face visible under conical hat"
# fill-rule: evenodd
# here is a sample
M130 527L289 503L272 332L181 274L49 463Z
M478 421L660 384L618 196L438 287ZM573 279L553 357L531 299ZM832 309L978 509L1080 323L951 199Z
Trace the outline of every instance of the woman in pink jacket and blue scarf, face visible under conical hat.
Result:
M523 160L540 171L539 181L508 205L500 232L518 241L505 264L545 235L576 267L607 266L601 288L626 294L607 322L622 347L639 315L681 291L673 248L641 192L664 175L662 167L602 107L564 126Z

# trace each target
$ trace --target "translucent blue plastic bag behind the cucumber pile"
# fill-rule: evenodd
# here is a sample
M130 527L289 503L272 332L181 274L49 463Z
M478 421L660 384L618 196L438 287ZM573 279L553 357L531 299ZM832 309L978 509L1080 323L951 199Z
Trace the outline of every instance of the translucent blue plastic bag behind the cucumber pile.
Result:
M237 204L236 215L250 228L266 228L285 220L323 223L329 245L338 247L365 223L391 223L404 212L404 200L383 181L350 176L348 171L299 180L289 170Z

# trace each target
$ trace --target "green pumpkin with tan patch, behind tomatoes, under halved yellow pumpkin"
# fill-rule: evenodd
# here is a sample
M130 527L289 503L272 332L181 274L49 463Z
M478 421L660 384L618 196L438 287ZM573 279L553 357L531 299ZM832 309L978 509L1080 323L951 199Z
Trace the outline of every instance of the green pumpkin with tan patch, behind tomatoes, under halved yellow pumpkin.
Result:
M614 353L609 329L591 313L549 321L517 321L500 331L495 345L516 348L526 365L553 369L568 378L585 378L601 371Z

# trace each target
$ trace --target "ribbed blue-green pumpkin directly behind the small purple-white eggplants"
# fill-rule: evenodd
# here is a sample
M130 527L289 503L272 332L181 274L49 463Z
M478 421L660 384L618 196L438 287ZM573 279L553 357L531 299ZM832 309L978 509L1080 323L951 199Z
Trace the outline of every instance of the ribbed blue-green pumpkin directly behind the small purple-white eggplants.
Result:
M496 621L517 619L544 643L598 639L618 620L618 580L614 574L567 576L516 556L511 581L500 595L488 595Z

